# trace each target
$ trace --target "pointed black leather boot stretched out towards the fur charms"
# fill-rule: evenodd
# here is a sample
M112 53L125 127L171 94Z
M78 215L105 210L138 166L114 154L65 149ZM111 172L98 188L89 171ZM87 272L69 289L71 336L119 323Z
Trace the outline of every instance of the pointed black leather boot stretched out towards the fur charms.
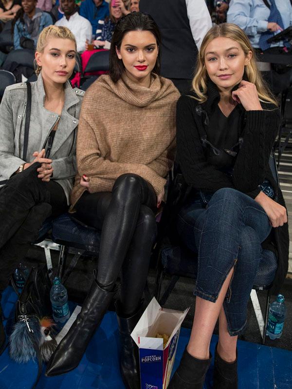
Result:
M81 312L49 360L47 376L67 373L79 365L91 337L108 310L114 293L101 289L94 279Z

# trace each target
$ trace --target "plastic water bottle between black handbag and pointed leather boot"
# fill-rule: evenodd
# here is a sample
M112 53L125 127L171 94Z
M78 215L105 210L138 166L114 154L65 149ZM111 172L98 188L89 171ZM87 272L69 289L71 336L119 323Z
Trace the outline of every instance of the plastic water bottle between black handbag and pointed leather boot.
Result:
M68 293L65 286L58 277L53 280L53 286L50 291L50 298L53 308L53 318L57 322L64 323L70 317L68 306Z

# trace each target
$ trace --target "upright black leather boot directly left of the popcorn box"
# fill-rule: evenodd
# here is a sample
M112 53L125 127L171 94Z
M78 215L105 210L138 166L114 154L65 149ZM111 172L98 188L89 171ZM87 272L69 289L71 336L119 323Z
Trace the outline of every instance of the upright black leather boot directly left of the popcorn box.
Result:
M129 318L123 318L117 311L121 343L121 374L127 389L140 389L139 348L131 337L131 333L138 323L143 308Z

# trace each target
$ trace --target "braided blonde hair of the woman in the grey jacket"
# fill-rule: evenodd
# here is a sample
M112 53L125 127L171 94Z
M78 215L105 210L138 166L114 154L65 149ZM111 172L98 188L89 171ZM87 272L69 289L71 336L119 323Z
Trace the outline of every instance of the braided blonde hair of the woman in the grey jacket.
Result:
M48 44L49 39L60 38L60 39L70 39L75 43L75 51L77 51L76 39L73 33L67 27L63 26L48 26L42 30L37 39L37 49L38 53L43 53L44 48ZM35 60L36 74L39 75L41 71L41 66L37 65Z

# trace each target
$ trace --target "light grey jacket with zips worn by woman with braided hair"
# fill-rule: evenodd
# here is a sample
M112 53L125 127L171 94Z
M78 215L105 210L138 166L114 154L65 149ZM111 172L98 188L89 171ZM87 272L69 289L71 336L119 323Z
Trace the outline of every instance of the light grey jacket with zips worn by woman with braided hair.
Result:
M35 151L40 151L54 127L58 115L44 107L45 91L41 74L31 83L32 106L26 161L23 156L23 138L26 115L27 88L25 83L5 89L0 105L0 186L24 162L32 162ZM60 184L68 205L76 173L76 132L84 91L65 84L65 103L50 153L53 159L53 178Z

